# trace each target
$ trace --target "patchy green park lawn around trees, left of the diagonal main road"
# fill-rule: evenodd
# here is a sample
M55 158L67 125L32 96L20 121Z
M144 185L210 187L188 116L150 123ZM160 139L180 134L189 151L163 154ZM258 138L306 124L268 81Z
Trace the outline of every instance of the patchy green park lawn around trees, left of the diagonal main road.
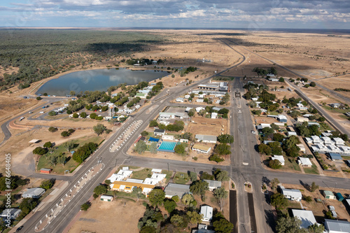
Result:
M72 141L73 143L76 144L76 148L78 148L78 146L83 146L85 143L89 143L89 142L99 143L100 141L102 141L102 138L100 136L93 136L93 137L84 136L81 139L75 139ZM48 168L48 169L52 169L52 172L55 172L56 174L64 174L64 171L69 170L70 172L72 172L74 169L76 169L76 167L79 166L79 163L74 161L71 158L71 153L69 153L62 144L58 146L54 146L53 148L54 148L54 151L52 154L48 153L47 155L42 155L39 158L38 164L36 166L36 169L38 171L42 168ZM76 150L76 148L74 148L73 150ZM50 164L50 162L47 160L46 157L50 155L59 155L60 153L66 154L68 162L66 162L64 166L62 164L56 164L56 166L53 166L52 164Z

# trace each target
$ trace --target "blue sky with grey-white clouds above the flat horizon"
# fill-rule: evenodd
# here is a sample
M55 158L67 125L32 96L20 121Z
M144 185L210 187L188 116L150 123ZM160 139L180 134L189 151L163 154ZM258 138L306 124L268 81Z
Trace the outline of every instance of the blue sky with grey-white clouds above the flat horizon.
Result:
M350 1L1 0L0 27L350 29Z

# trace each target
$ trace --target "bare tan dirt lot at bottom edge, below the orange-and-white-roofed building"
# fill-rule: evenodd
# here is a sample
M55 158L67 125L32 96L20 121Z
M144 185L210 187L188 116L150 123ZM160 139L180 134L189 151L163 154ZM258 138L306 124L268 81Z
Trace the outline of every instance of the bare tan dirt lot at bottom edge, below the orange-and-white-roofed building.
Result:
M92 201L90 209L80 215L69 233L139 232L137 223L145 210L141 201L114 199L113 202L101 202L96 199Z

